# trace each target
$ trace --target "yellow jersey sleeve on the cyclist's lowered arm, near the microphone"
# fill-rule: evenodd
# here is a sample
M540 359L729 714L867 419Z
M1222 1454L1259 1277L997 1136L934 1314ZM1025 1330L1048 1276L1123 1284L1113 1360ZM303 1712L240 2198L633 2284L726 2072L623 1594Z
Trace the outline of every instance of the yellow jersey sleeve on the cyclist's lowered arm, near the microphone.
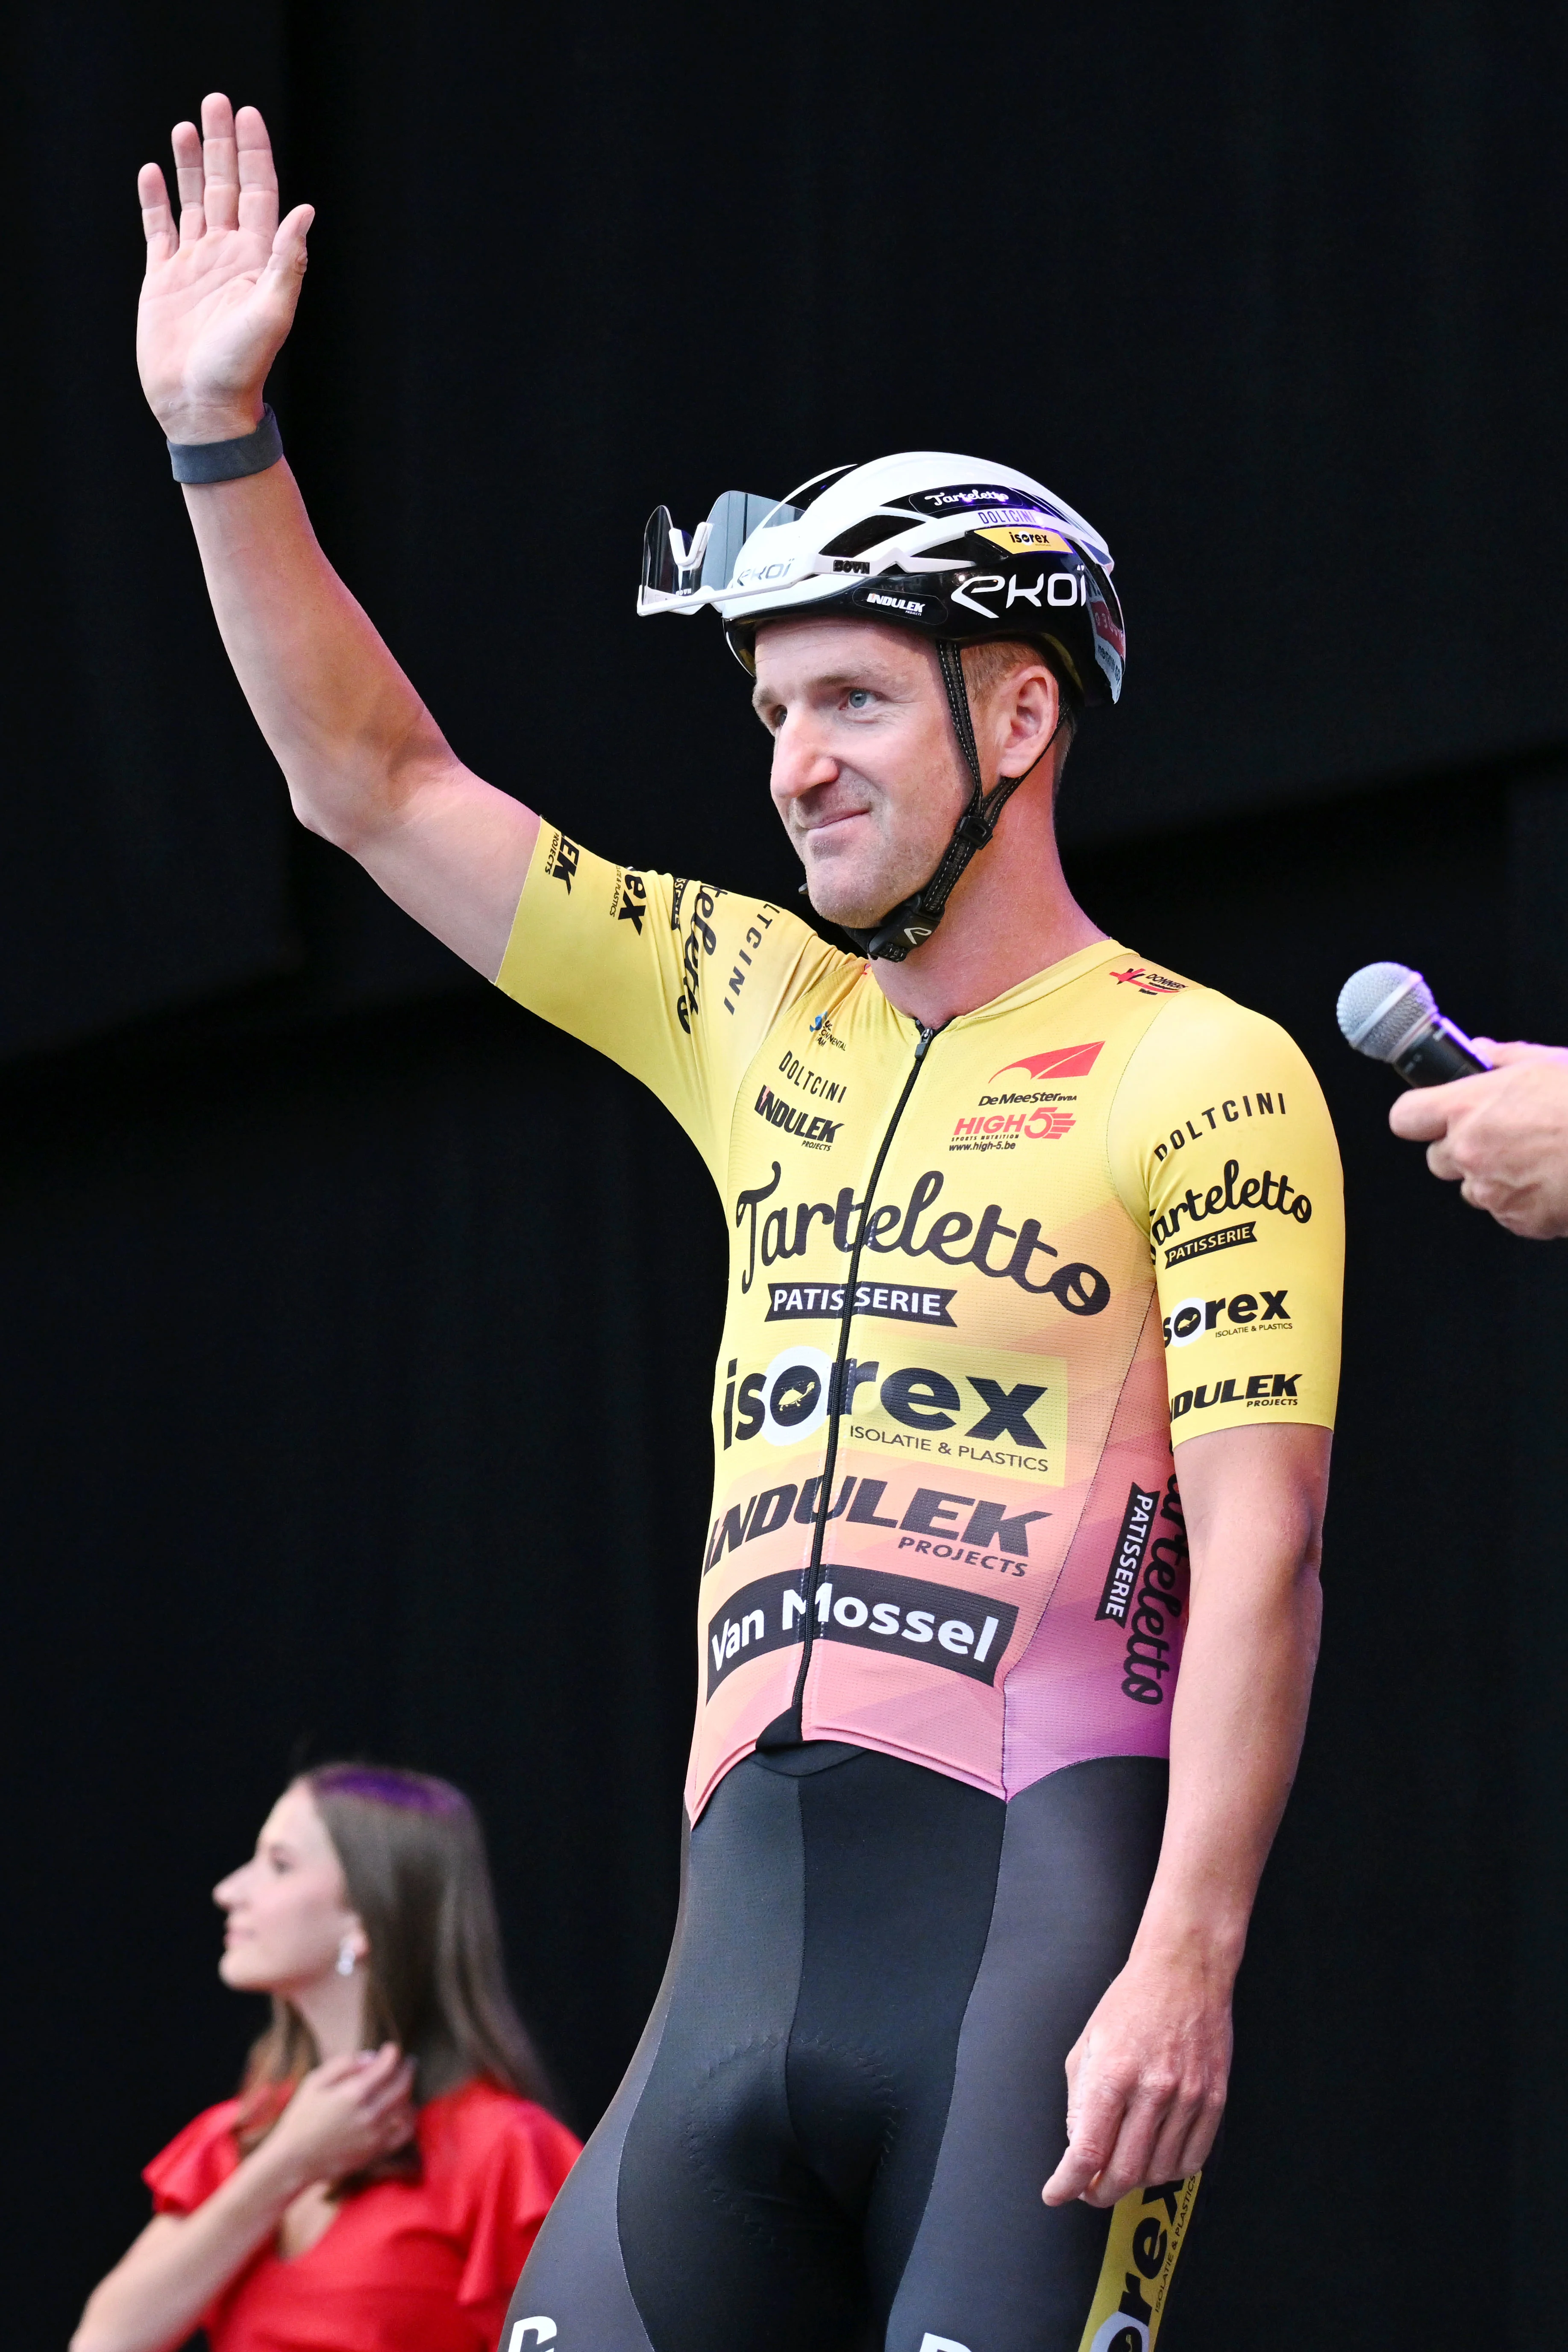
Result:
M1121 1077L1110 1157L1154 1251L1173 1444L1333 1428L1345 1188L1300 1047L1213 990L1173 997Z

